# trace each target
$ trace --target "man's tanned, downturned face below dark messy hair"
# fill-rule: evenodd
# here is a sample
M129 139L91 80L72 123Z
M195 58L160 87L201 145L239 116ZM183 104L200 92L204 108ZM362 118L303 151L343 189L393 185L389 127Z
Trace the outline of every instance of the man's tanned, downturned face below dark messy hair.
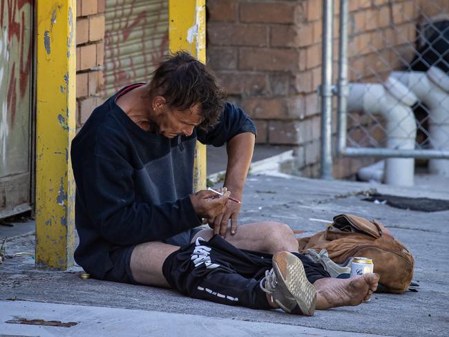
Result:
M174 138L178 135L191 135L193 128L198 126L202 119L200 104L195 104L187 110L170 109L164 104L154 122L157 124L157 133L167 138Z

